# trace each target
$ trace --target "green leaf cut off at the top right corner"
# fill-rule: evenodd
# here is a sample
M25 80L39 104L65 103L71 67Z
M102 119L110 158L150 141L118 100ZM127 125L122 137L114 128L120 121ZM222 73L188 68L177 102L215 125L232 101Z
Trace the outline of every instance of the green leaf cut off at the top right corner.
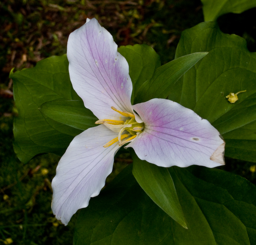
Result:
M240 14L256 6L255 0L201 0L205 21L215 21L223 14Z

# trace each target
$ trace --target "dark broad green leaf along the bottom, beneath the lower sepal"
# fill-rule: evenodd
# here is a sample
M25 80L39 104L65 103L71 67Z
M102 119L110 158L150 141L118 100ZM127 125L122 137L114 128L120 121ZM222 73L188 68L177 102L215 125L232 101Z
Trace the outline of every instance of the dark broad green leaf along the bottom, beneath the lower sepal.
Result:
M188 229L146 195L128 166L80 211L73 244L255 244L255 185L219 169L169 170Z

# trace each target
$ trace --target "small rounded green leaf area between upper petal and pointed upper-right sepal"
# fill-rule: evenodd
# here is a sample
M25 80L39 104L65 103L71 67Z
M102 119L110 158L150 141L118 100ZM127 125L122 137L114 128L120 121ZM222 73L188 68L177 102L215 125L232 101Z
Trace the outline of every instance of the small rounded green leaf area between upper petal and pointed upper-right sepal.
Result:
M133 85L131 102L133 102L138 88L150 79L156 68L161 65L160 57L153 48L146 44L121 46L118 48L118 52L125 57L129 64L129 75Z

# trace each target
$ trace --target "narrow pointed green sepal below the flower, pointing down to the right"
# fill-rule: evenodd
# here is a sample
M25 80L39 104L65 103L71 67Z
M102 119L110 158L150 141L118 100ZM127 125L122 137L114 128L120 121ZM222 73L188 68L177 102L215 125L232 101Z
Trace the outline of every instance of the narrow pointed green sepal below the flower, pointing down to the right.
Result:
M172 177L167 168L140 160L131 151L132 174L147 195L182 227L188 229Z

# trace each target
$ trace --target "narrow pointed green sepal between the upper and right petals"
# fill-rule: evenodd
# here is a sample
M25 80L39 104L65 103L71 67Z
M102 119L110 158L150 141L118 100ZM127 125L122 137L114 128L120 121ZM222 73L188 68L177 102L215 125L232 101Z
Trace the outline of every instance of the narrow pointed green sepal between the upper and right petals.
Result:
M177 80L206 54L207 52L189 54L157 68L153 77L139 88L134 104L153 98L165 99L172 92Z

